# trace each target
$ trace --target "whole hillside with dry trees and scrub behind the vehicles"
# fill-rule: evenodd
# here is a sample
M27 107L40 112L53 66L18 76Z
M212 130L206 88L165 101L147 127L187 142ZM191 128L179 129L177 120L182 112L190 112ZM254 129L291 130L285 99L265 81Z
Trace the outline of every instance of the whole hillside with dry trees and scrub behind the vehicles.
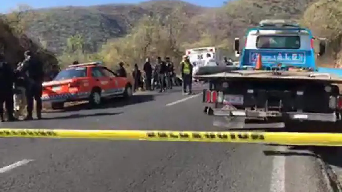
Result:
M103 60L132 66L149 57L180 60L186 47L221 46L262 19L293 18L329 39L330 57L339 60L342 43L341 0L233 0L205 8L177 0L140 4L69 6L32 10L19 6L4 19L40 46L73 60Z

